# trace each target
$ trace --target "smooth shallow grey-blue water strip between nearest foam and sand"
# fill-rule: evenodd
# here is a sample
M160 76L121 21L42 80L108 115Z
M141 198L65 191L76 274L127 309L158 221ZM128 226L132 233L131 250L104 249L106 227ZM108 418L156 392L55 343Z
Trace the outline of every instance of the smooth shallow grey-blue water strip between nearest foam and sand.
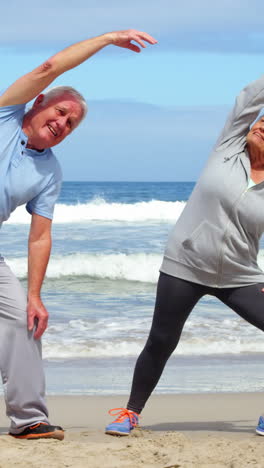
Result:
M137 356L44 359L47 394L111 396L129 393ZM263 353L172 355L154 395L263 391ZM126 401L126 400L125 400Z

